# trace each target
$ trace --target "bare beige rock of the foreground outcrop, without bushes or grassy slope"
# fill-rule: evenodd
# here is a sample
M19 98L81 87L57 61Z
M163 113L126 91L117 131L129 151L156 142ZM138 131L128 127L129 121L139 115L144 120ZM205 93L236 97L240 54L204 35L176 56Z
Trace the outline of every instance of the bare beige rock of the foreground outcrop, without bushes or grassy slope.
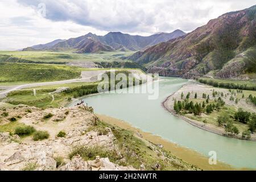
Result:
M28 109L30 111L26 112ZM108 150L118 151L110 128L106 128L104 133L88 131L98 122L98 118L90 107L81 105L73 108L40 110L35 107L19 106L15 110L7 109L6 111L10 114L22 115L19 122L34 126L36 130L47 130L50 138L40 142L28 139L26 142L16 143L20 141L18 135L0 133L0 171L23 169L39 171L135 170L133 167L122 167L111 163L108 158L100 159L100 166L95 165L96 161L86 162L80 156L75 156L72 160L67 159L69 152L76 146L104 146ZM48 113L52 113L53 117L44 123L46 121L43 117ZM55 137L61 130L64 130L67 136L65 138ZM58 156L66 160L66 164L59 168L56 162Z

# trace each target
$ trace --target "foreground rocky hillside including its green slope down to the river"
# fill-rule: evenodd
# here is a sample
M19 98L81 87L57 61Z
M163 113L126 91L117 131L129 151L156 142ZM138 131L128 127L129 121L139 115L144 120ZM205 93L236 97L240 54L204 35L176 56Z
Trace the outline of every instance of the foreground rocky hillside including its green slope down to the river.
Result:
M0 133L0 171L134 171L136 168L129 165L139 168L140 163L144 166L142 169L159 170L162 163L171 170L198 169L161 150L160 146L135 137L130 131L99 121L92 107L44 110L24 105L8 107L0 109L0 126L10 123L3 116L6 113L9 117L18 115L19 119L13 123L11 134ZM19 138L14 135L17 126L47 131L49 138L39 141L34 141L32 136ZM60 131L65 136L60 136ZM147 152L154 155L141 155ZM95 160L88 160L95 156Z

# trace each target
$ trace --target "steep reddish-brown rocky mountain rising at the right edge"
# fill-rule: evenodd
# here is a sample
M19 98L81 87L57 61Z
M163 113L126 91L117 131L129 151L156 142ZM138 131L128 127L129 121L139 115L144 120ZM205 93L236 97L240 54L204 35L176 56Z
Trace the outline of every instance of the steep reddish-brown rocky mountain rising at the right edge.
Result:
M162 76L245 77L256 63L256 6L226 13L187 35L139 51L127 59ZM254 57L254 58L253 58Z

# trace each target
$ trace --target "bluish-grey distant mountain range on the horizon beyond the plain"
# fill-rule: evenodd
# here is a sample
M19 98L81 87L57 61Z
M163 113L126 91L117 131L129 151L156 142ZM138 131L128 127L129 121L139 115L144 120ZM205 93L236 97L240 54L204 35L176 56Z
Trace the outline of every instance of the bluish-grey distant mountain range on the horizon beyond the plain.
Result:
M36 50L48 49L53 51L60 49L75 49L75 52L78 53L84 53L85 51L88 53L90 50L92 51L91 53L114 50L138 51L183 35L185 35L185 33L181 30L176 30L171 33L154 34L151 36L129 35L121 32L109 32L105 36L97 36L96 34L89 33L78 38L55 40L51 43L40 44L32 46L31 48Z

